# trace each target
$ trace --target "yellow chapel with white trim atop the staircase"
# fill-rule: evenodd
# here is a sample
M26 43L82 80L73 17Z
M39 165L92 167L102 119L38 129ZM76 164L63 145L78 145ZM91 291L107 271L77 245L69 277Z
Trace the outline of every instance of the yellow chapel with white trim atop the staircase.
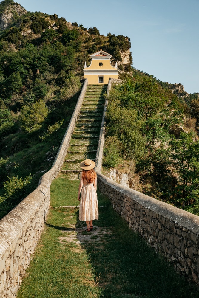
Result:
M89 66L84 64L84 79L88 79L89 85L108 84L109 78L118 79L118 66L111 65L112 55L100 51L90 55Z

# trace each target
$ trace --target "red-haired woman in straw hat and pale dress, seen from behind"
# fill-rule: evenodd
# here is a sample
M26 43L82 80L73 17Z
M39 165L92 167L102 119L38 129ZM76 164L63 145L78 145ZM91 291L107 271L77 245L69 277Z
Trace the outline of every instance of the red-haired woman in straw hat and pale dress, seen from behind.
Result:
M79 220L86 221L87 232L92 231L92 221L98 219L97 174L93 170L95 162L85 159L80 163L80 184L78 190ZM80 200L81 193L81 200Z

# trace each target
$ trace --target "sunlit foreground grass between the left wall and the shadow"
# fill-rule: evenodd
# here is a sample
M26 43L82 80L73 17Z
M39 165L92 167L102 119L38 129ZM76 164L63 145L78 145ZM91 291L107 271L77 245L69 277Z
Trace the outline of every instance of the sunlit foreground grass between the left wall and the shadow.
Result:
M71 217L76 219L74 211L51 210L18 298L100 297L86 252L76 249L75 243L59 242L63 224Z

